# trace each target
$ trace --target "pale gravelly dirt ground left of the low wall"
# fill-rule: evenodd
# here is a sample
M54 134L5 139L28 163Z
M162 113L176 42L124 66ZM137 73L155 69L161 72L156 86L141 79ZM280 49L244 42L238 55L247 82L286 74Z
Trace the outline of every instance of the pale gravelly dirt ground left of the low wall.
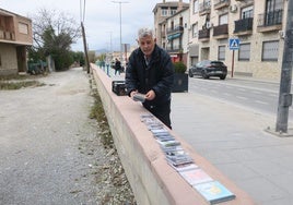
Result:
M0 204L136 204L82 68L0 91ZM102 122L105 123L105 122Z

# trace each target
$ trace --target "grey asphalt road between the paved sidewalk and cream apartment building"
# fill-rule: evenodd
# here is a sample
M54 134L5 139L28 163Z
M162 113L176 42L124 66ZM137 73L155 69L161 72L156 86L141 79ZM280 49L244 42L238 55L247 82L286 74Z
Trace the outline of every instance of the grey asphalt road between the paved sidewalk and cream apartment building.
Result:
M260 112L277 116L279 100L279 83L260 82L239 79L209 81L194 77L189 79L189 92L208 95L226 102L237 104ZM291 116L293 109L290 109Z

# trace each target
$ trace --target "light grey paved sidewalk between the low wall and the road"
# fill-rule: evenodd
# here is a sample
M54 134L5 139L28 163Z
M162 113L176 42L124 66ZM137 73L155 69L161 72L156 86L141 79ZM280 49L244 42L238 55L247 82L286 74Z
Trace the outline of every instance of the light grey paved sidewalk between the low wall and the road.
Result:
M113 80L124 80L124 73ZM293 204L293 137L265 131L274 129L274 117L191 93L173 93L172 97L173 130L197 153L256 204Z

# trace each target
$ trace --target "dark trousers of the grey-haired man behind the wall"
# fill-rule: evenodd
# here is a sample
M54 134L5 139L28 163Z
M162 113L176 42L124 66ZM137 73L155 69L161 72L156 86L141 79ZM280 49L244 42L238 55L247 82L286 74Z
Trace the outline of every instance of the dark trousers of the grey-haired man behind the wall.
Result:
M159 120L161 120L166 126L172 129L171 126L171 119L169 119L169 113L171 113L171 100L167 101L164 105L160 106L145 106L143 107L149 110L152 114L154 114Z

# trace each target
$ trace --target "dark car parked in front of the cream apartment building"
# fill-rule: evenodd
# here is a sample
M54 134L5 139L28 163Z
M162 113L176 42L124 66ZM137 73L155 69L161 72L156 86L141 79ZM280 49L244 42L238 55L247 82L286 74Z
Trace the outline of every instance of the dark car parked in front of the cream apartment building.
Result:
M222 61L203 60L192 65L188 71L188 75L190 77L200 75L203 79L218 76L221 80L225 80L227 75L227 67Z

